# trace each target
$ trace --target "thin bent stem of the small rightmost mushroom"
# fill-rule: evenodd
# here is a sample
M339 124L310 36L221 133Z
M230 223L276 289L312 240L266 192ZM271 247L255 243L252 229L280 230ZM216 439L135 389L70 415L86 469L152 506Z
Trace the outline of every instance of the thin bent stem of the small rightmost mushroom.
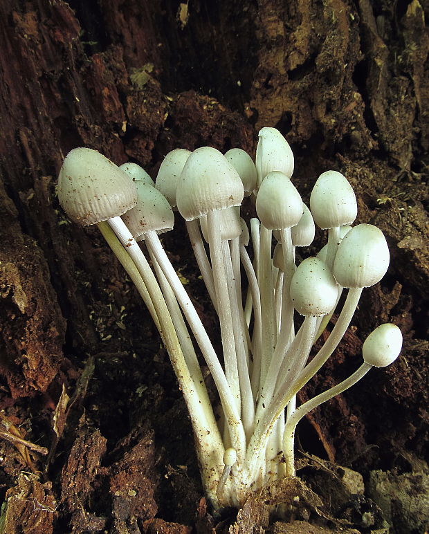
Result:
M357 371L354 371L354 374L349 376L349 378L346 378L343 380L343 382L331 387L331 389L328 389L326 392L311 398L309 401L307 401L307 403L300 405L300 407L295 409L295 412L293 412L293 414L287 418L283 437L283 454L284 458L286 459L286 477L295 477L293 443L296 425L298 425L300 420L309 412L311 412L312 409L318 407L320 404L325 403L326 401L329 401L330 398L343 393L346 389L349 389L349 387L352 387L352 385L356 384L356 382L358 382L360 378L363 378L363 376L365 376L365 374L367 374L369 369L372 367L372 365L363 363L359 369L357 369Z

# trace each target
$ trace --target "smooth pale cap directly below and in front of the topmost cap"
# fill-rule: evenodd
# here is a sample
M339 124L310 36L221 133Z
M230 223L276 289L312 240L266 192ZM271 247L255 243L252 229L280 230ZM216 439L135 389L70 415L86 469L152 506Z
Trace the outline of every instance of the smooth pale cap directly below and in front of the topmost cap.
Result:
M285 174L270 172L257 192L256 212L268 230L291 228L302 217L301 195Z

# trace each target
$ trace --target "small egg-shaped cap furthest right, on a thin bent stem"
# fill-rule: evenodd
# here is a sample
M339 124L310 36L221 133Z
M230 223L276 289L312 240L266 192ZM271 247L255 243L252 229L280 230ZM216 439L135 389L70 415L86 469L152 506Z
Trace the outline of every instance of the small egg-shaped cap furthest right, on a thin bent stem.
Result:
M363 342L363 360L374 367L386 367L398 358L401 349L401 330L387 322L377 326Z

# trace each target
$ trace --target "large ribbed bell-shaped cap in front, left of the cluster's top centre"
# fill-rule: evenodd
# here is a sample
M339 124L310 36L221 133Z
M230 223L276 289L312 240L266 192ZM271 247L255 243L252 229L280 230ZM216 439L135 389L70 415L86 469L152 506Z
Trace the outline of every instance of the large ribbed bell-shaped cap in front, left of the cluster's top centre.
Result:
M177 185L177 209L186 221L215 210L241 205L244 189L239 174L219 150L194 150Z

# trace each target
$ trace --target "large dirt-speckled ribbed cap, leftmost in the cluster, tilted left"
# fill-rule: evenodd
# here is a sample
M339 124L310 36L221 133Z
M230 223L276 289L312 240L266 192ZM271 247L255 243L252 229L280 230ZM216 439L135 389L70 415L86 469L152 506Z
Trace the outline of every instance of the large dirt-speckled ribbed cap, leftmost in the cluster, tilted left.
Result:
M64 158L58 199L72 221L91 225L133 208L137 192L129 176L100 152L75 148Z

